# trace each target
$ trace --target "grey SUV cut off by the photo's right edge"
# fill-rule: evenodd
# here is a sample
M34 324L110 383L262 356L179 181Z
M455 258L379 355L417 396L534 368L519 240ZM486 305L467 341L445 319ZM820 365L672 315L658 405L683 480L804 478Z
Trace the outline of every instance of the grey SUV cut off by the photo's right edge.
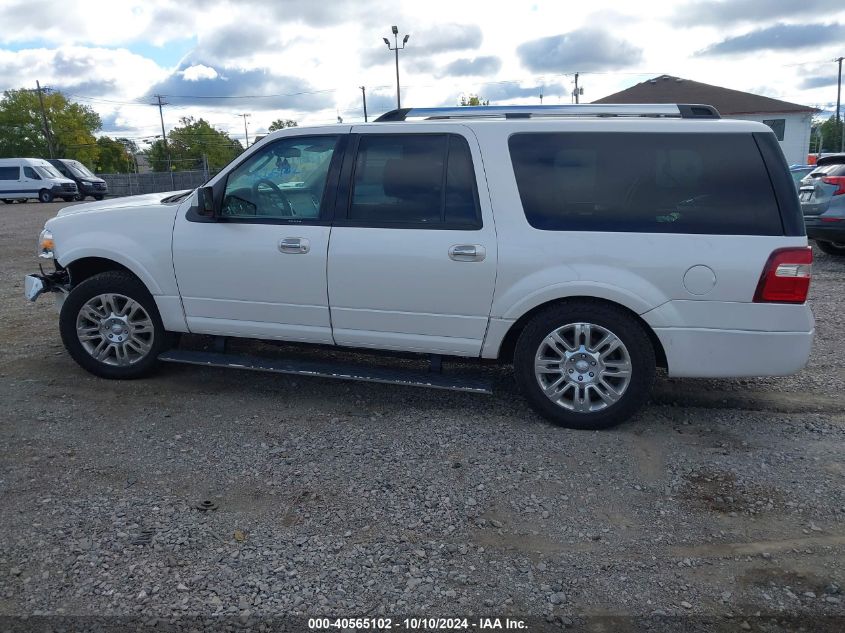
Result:
M798 196L807 237L825 253L845 256L845 155L828 158Z

